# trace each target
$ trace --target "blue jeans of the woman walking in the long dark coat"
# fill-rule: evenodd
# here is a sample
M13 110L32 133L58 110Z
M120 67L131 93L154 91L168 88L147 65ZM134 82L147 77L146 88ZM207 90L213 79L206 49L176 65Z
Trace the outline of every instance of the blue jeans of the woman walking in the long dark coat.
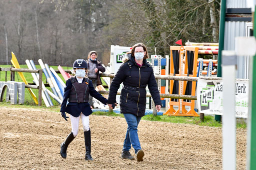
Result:
M125 113L123 114L123 116L128 124L128 128L127 128L125 139L123 142L122 151L129 151L132 145L136 154L138 150L141 149L140 143L138 140L138 130L137 130L138 123L141 117L138 117L129 113Z

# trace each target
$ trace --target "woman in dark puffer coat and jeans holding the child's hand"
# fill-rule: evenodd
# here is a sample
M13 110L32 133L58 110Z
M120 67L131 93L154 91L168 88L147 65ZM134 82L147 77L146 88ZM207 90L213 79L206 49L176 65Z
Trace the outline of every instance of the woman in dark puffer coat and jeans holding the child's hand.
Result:
M148 58L148 54L145 45L142 43L133 45L124 63L115 74L108 95L108 105L111 107L111 104L116 103L115 97L117 90L120 84L123 83L120 95L120 112L123 114L128 128L123 143L121 158L134 160L129 153L132 145L138 162L143 161L144 156L138 140L137 126L141 117L145 115L146 85L151 93L156 110L159 111L161 108L160 95L153 69L146 62L146 58Z

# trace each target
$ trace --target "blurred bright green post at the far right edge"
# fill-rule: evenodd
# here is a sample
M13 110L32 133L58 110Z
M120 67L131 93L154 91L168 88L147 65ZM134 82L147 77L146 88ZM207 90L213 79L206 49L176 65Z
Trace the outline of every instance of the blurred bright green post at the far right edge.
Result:
M256 6L254 6L254 9L256 9ZM253 36L256 38L256 16L255 16L255 10L252 15L253 17ZM254 48L254 47L252 47ZM253 56L252 61L252 74L251 74L251 120L248 125L250 125L250 163L249 163L249 170L256 170L256 105L253 104L254 101L256 101L256 55Z

